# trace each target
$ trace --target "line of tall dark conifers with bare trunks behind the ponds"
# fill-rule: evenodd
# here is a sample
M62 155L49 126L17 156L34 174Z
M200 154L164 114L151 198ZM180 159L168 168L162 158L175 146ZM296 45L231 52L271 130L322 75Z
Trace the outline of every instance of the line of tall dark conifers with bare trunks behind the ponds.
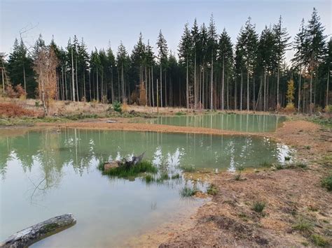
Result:
M210 110L288 105L312 113L331 99L332 39L324 31L314 8L293 39L282 17L261 34L249 17L235 44L226 29L217 32L213 15L207 25L194 20L184 26L177 56L161 30L155 43L139 34L132 52L120 42L116 53L111 45L89 53L76 36L65 48L54 39L46 45L41 35L34 48L16 39L8 59L1 54L2 87L6 94L10 85L22 85L28 97L39 99ZM290 63L286 50L294 52Z

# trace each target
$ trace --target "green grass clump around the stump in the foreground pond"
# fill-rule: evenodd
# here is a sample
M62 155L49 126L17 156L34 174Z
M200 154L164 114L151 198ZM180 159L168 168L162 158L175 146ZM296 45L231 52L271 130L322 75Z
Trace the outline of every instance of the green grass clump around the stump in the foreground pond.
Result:
M127 168L126 166L119 166L118 168L111 168L107 171L104 171L104 162L99 162L98 166L99 170L102 170L104 175L110 175L113 177L137 177L141 173L157 173L157 168L153 166L151 161L141 161L141 163L138 163L135 166L131 166L130 168Z

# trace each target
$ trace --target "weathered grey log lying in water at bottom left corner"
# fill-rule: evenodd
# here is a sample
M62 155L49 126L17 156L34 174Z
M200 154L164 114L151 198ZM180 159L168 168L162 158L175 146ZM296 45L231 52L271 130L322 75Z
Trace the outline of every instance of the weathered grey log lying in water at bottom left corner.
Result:
M53 217L11 235L7 240L0 243L0 247L29 247L29 245L32 245L43 238L47 238L50 235L74 226L74 224L76 224L76 219L73 214L63 214Z

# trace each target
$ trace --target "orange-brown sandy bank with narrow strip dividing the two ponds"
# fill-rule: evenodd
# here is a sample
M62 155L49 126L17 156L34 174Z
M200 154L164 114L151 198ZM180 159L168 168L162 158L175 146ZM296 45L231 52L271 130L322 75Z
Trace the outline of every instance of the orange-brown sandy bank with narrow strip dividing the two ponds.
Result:
M208 175L219 189L212 200L190 216L184 214L160 228L128 240L128 247L301 247L314 245L313 234L332 244L332 194L321 187L321 178L331 173L332 131L302 120L284 122L274 133L242 133L186 126L127 123L127 119L93 122L39 124L81 129L206 133L213 135L268 136L296 149L295 166L283 170L248 171L242 180L230 173ZM202 177L202 175L199 175ZM193 177L194 178L194 177ZM207 178L207 177L205 177ZM252 210L263 201L263 214ZM298 231L299 223L310 226Z

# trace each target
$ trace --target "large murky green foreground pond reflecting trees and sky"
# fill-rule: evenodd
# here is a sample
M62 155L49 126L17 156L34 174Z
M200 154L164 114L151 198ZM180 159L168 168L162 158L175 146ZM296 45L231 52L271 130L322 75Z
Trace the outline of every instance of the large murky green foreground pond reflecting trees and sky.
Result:
M124 246L132 235L181 216L202 200L179 196L185 182L146 184L102 175L99 159L146 151L170 175L179 166L234 170L284 161L289 148L267 138L80 129L0 136L0 241L50 217L73 213L77 224L32 247ZM198 184L204 190L204 183Z

